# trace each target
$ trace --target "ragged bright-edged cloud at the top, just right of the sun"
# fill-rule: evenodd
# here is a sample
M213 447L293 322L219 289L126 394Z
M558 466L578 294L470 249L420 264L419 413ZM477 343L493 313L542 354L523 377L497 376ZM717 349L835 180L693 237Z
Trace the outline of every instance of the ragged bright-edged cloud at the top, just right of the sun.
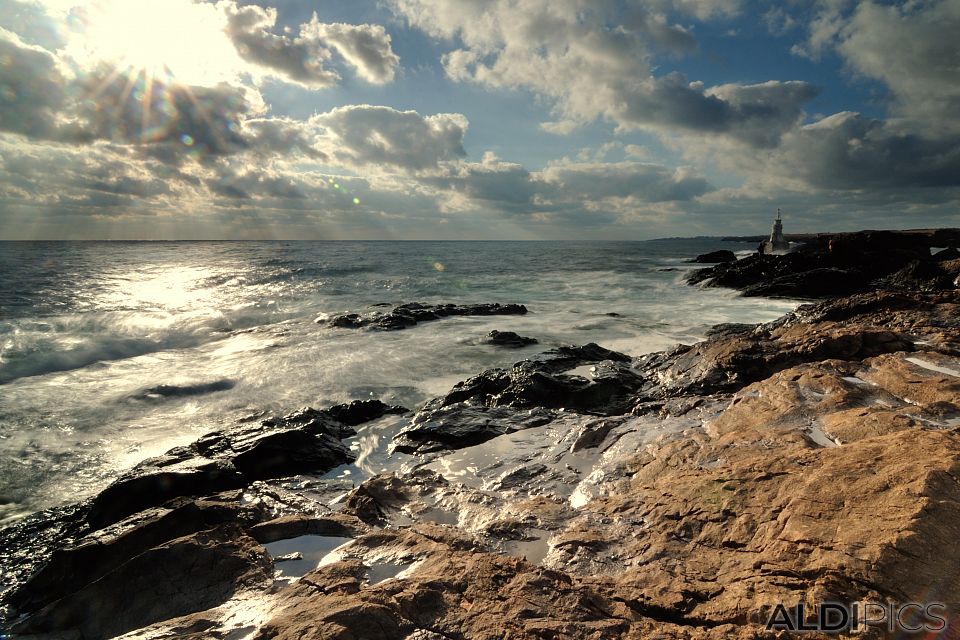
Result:
M271 31L277 22L272 7L239 6L234 0L221 0L218 6L227 16L227 35L244 60L310 89L340 81L340 74L329 68L333 49L374 84L391 82L400 62L380 25L324 24L314 14L290 37Z

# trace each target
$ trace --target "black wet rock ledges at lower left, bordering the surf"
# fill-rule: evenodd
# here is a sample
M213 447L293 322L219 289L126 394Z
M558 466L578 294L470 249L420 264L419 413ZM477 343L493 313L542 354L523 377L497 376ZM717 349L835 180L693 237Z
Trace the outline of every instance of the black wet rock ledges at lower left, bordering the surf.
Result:
M295 534L276 520L284 509L307 522L304 533L362 523L311 517L302 500L261 481L353 460L341 442L355 433L351 425L402 411L368 400L240 424L137 465L88 503L0 531L4 617L30 614L18 633L111 637L268 588L272 564L257 541Z

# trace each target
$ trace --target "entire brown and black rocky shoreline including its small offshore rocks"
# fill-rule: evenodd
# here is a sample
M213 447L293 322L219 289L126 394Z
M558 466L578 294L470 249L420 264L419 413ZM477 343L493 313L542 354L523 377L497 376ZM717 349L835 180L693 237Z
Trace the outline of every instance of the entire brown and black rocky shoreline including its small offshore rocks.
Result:
M691 282L823 299L640 357L552 349L416 412L368 401L209 434L0 531L4 624L84 639L762 638L778 637L764 629L778 604L936 601L951 621L938 637L960 637L957 275L876 233L727 261ZM526 309L330 322L471 311ZM373 428L400 471L321 477Z

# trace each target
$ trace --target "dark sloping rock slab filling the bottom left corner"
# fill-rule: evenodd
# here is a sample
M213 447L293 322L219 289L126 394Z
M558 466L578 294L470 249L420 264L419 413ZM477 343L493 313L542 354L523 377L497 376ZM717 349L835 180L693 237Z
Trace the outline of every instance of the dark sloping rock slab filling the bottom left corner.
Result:
M171 540L134 556L13 627L15 634L76 630L109 638L216 606L273 581L266 550L236 526Z

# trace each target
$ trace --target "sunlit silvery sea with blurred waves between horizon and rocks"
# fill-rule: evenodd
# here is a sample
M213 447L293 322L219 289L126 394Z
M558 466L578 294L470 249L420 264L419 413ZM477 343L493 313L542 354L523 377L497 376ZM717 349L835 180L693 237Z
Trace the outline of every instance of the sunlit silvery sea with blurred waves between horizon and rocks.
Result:
M753 250L715 238L0 242L0 526L251 416L367 398L416 409L559 345L641 355L797 306L684 284L688 259L721 248ZM328 326L407 302L529 313ZM484 344L494 329L539 344ZM375 444L381 471L388 444Z

